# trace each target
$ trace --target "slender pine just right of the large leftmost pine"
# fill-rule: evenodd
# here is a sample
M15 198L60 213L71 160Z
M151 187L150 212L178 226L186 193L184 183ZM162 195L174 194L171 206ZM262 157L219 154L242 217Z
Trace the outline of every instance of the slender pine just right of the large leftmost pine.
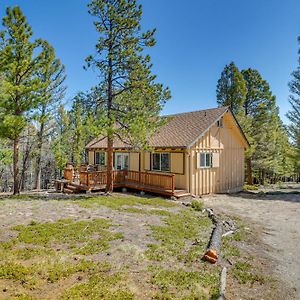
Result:
M66 78L65 68L60 60L55 57L55 51L48 43L45 43L45 63L39 71L42 87L38 92L39 103L35 111L35 120L38 123L36 167L35 167L35 189L41 188L41 158L45 135L48 131L49 120L53 117L60 100L64 97Z

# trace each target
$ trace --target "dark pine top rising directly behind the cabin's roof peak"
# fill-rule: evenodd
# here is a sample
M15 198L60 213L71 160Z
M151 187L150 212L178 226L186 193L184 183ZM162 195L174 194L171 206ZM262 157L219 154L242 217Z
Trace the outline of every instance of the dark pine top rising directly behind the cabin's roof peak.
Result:
M230 106L232 112L237 114L245 101L247 93L246 82L243 75L231 62L226 65L217 84L217 102L219 106Z

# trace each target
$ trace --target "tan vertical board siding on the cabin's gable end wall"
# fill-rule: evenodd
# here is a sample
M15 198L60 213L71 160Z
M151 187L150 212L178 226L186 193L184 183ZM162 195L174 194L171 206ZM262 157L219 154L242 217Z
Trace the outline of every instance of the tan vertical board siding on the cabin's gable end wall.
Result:
M194 162L198 152L212 152L213 168L199 168ZM241 134L232 117L224 116L224 127L212 126L190 150L192 161L191 193L203 195L229 192L243 186L244 182L244 144ZM216 158L218 157L218 158ZM217 167L217 161L219 167Z

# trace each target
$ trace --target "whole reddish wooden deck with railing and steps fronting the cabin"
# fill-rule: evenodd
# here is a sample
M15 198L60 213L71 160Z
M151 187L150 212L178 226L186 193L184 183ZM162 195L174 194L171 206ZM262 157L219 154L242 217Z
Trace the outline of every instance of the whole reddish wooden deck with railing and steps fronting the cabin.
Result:
M66 169L64 177L69 181L69 184L65 186L67 192L75 192L76 189L82 191L105 190L107 182L106 171L80 171L77 182L74 182L72 170ZM174 174L118 170L113 173L113 186L114 188L125 187L177 198L190 195L185 190L175 189Z

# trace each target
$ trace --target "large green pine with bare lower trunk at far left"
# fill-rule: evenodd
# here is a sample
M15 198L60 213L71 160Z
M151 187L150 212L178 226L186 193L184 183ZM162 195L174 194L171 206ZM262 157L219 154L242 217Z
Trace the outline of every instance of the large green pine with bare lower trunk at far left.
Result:
M38 104L42 84L38 70L43 65L43 41L31 41L32 29L19 7L6 10L0 32L0 73L7 99L0 99L0 135L13 141L14 194L20 191L20 135L29 113Z

